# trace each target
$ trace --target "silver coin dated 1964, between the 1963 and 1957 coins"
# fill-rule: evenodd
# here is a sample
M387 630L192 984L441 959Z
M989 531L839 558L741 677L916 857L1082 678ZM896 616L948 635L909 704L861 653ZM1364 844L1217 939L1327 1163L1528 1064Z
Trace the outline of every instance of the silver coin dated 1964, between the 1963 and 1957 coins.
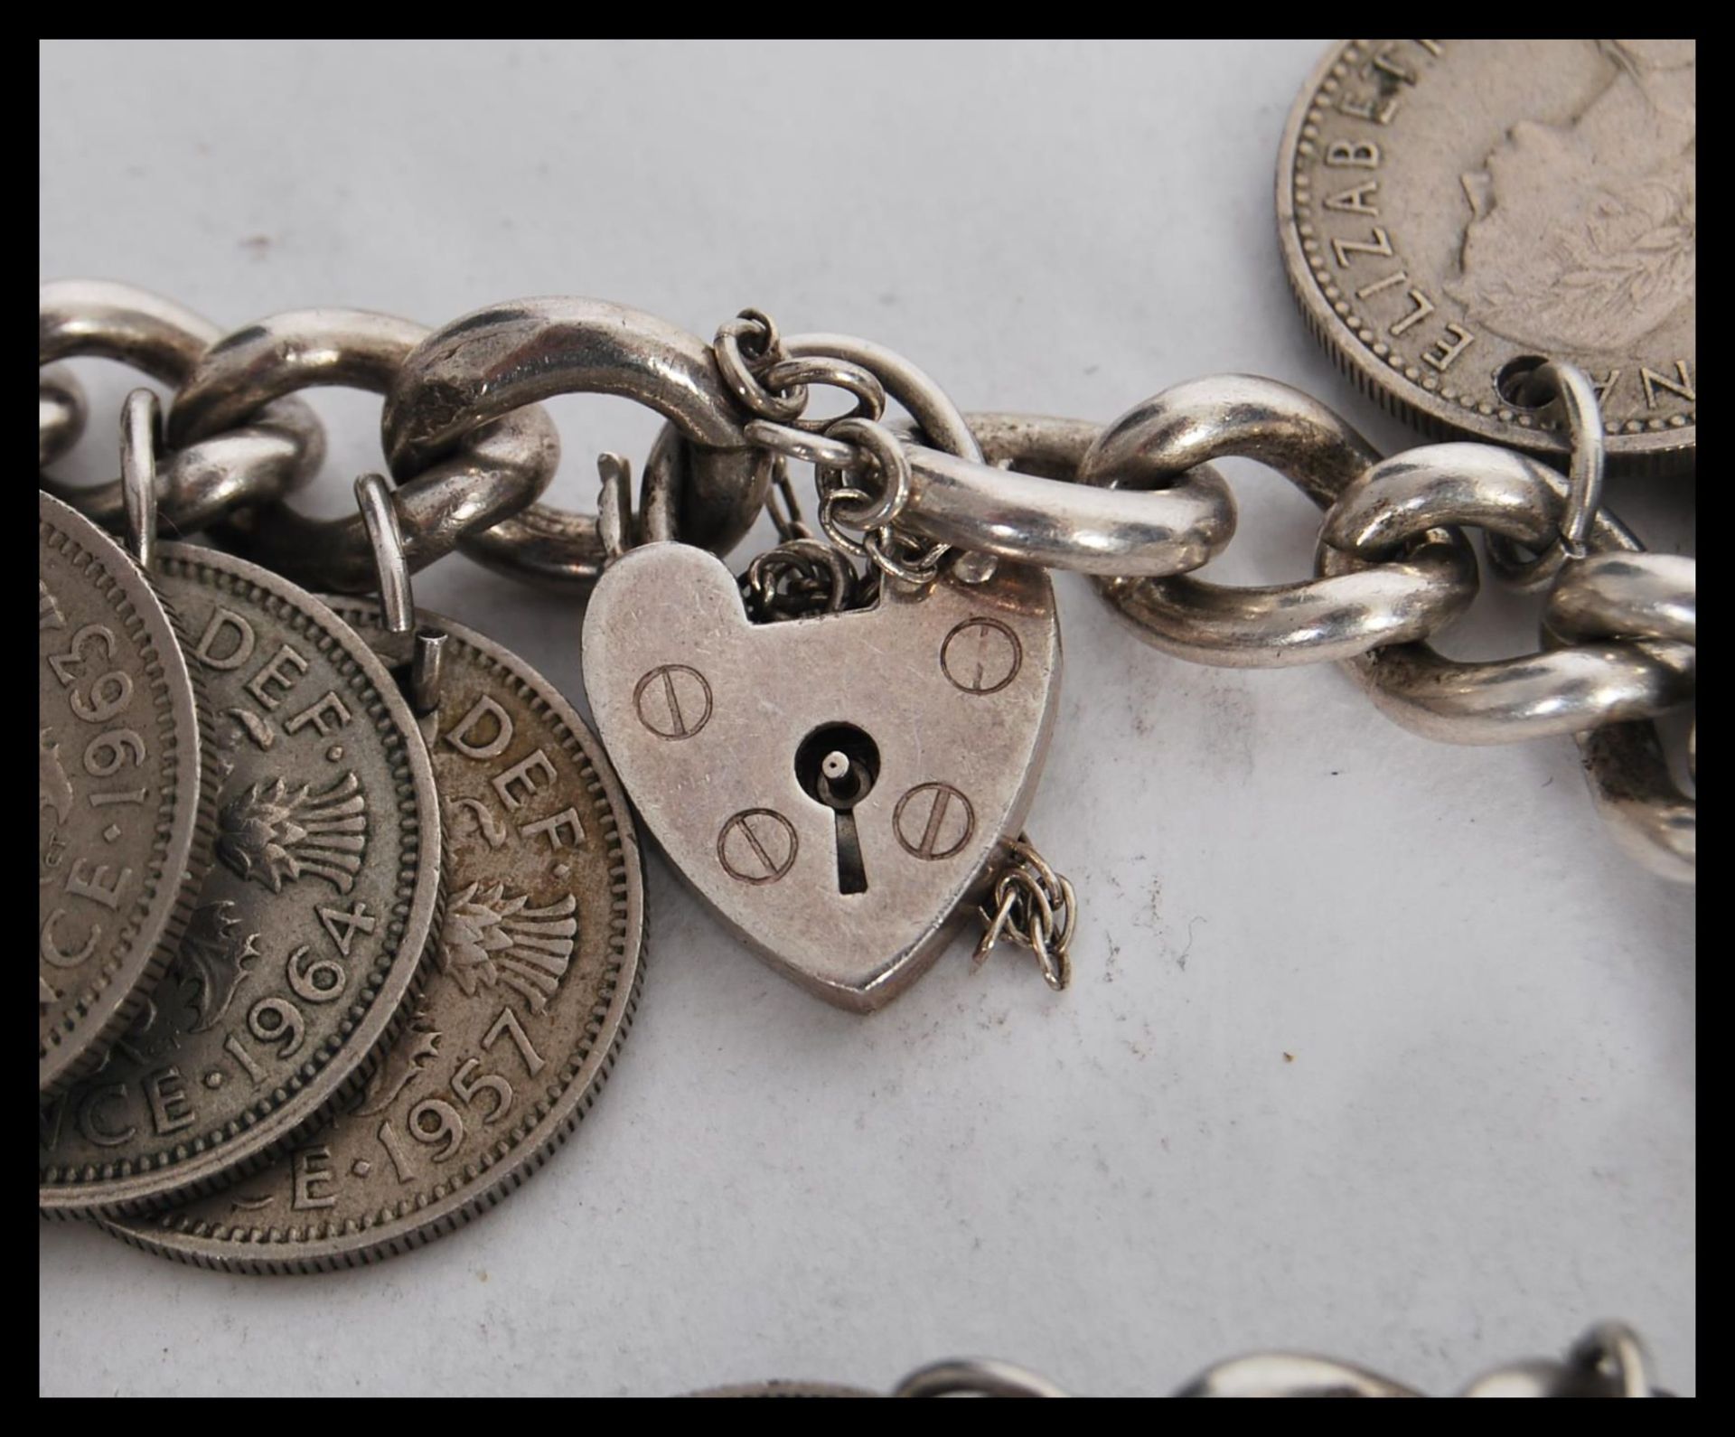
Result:
M208 548L161 545L158 581L210 696L217 861L149 1003L42 1111L54 1215L189 1198L293 1144L366 1081L439 930L427 748L366 644Z

